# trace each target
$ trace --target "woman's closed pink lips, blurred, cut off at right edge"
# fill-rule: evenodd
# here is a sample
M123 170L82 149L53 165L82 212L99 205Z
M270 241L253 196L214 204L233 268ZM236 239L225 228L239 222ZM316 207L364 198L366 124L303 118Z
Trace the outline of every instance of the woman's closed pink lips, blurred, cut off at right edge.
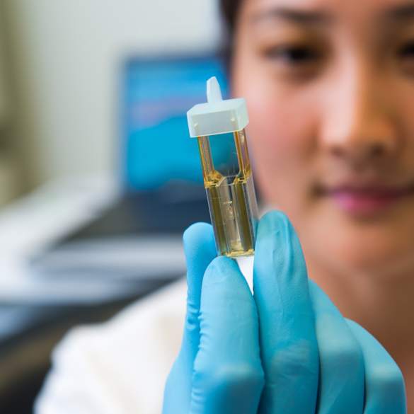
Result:
M372 215L384 212L401 200L405 200L406 197L414 195L414 186L347 183L324 188L322 194L333 200L340 209L347 213Z

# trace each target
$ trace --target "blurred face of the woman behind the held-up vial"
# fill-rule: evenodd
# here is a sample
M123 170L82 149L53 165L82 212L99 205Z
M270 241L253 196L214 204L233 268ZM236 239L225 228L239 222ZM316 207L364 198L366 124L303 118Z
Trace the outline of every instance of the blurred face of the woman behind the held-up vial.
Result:
M310 263L414 268L414 3L245 0L233 91L255 179Z

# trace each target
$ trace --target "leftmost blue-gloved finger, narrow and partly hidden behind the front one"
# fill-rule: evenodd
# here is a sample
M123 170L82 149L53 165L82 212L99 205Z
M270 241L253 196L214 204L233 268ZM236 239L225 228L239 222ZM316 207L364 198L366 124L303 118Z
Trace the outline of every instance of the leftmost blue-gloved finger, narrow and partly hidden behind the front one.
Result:
M191 401L191 379L200 341L200 296L202 278L216 256L213 229L210 224L192 224L183 235L187 262L187 311L183 342L176 362L166 381L163 414L188 413Z

